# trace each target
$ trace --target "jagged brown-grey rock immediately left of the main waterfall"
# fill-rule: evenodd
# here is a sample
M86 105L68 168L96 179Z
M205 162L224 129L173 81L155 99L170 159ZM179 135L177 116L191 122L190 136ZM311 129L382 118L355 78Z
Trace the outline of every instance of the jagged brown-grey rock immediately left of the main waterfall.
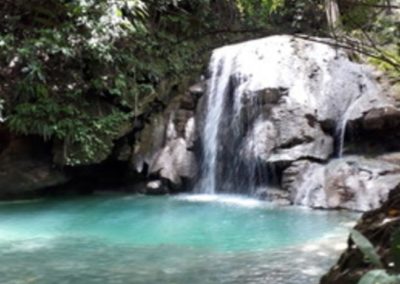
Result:
M147 193L180 191L187 181L197 176L195 109L203 88L193 86L186 94L176 97L139 134L131 163L136 171L153 180L147 185Z

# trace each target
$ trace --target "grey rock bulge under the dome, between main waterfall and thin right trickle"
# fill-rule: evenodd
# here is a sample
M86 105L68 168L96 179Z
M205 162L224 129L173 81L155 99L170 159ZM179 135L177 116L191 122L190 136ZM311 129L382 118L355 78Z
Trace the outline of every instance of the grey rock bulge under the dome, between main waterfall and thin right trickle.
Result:
M334 152L333 138L295 102L280 101L269 116L260 115L248 128L243 154L266 163L326 161Z

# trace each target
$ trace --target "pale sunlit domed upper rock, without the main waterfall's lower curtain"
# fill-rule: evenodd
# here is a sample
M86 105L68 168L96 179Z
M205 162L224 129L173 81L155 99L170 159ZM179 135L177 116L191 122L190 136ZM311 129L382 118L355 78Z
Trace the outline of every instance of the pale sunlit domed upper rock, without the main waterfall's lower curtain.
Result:
M237 163L328 161L332 136L346 122L368 112L371 119L373 109L396 113L387 111L394 101L382 95L374 70L328 44L273 36L217 49L212 66L214 89L221 94L208 96L224 96L218 99L223 115L215 121L226 152L220 156L239 153ZM200 111L210 112L204 106Z

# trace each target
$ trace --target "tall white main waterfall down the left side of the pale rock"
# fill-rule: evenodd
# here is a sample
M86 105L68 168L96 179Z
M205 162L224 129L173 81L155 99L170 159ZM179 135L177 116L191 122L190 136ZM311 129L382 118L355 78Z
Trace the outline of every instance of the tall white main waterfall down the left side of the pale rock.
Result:
M211 57L201 132L203 163L196 190L199 193L251 194L262 175L254 154L256 133L249 130L261 108L248 89L249 77L238 71L242 63L237 61L238 51L235 46L226 46L215 50Z

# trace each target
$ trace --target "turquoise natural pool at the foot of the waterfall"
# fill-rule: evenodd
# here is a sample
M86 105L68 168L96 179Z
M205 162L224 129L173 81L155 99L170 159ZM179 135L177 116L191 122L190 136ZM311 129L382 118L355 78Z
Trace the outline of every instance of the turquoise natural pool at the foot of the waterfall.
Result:
M354 214L232 196L0 204L0 283L312 284Z

